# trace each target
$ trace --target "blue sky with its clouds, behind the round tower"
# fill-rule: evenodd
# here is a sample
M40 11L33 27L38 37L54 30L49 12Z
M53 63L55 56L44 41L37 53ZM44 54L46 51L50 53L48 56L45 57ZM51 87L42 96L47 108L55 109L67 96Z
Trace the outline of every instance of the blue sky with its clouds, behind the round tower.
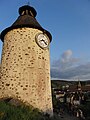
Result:
M52 34L51 78L90 79L90 0L0 0L0 32L28 2L37 11L37 21ZM2 45L0 41L0 54Z

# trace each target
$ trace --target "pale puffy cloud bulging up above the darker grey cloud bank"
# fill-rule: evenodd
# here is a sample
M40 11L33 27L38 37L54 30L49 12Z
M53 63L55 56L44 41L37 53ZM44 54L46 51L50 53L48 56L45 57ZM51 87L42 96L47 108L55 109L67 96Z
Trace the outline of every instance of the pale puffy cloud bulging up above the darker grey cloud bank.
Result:
M76 63L79 63L78 58L73 58L72 57L73 52L71 50L65 51L62 55L61 58L58 60L55 60L53 64L51 65L52 69L58 69L60 71L67 70L73 66L76 66Z

